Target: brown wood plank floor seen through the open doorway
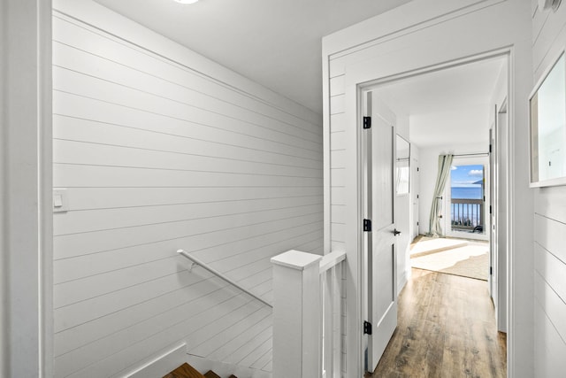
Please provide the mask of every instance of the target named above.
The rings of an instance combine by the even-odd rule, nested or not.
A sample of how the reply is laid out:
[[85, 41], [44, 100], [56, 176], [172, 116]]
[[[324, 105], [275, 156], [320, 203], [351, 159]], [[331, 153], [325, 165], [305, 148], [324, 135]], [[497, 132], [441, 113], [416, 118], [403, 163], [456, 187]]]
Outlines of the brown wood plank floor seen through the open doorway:
[[485, 281], [413, 268], [398, 327], [366, 377], [505, 377], [506, 360]]

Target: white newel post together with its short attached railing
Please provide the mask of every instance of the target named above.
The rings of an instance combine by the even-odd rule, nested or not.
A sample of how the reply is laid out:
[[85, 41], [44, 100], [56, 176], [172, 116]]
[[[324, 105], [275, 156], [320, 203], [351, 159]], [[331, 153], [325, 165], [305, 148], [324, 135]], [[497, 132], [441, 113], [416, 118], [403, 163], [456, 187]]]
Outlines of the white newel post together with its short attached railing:
[[346, 252], [287, 251], [273, 264], [273, 378], [337, 378]]

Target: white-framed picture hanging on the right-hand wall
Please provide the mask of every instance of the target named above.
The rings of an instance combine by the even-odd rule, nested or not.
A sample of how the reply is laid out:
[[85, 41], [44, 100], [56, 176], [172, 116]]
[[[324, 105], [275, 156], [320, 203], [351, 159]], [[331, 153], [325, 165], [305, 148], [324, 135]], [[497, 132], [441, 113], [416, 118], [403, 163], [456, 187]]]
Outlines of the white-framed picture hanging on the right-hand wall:
[[529, 96], [531, 187], [566, 185], [566, 55], [558, 55]]

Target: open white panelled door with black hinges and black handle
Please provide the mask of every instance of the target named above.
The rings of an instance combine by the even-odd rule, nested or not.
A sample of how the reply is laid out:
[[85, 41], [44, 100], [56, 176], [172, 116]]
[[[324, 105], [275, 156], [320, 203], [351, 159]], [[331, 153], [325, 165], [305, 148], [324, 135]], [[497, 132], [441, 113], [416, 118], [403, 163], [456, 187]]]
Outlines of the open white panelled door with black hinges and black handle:
[[[367, 232], [367, 316], [371, 323], [368, 337], [367, 367], [377, 366], [397, 327], [397, 262], [394, 220], [394, 115], [376, 96], [368, 94], [371, 128], [363, 131], [366, 143], [366, 218]], [[364, 221], [367, 224], [367, 221]]]

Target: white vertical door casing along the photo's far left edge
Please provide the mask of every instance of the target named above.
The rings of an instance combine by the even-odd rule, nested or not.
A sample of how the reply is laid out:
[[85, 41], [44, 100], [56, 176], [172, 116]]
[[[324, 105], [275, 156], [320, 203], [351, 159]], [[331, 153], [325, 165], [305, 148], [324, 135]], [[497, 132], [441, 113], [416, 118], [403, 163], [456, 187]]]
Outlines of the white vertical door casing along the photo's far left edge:
[[0, 375], [50, 377], [51, 0], [5, 0], [0, 22]]

